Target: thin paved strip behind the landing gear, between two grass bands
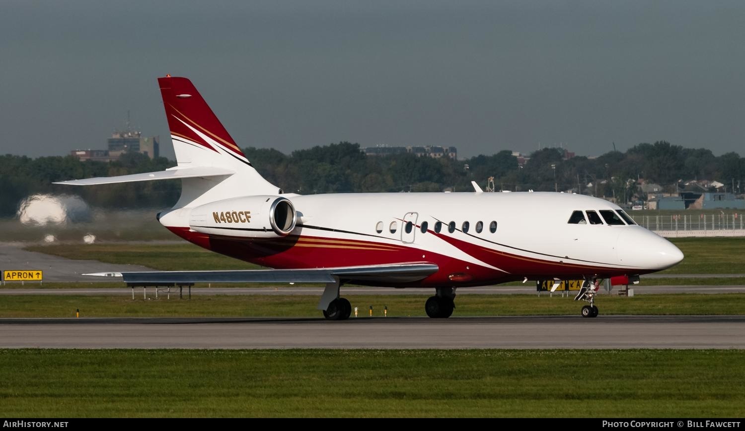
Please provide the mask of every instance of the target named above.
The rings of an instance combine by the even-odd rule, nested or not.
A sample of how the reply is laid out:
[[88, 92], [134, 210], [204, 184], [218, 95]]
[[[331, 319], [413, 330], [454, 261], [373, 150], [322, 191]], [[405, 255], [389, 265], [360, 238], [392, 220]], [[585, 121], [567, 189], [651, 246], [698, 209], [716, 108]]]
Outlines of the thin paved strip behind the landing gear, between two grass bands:
[[[634, 294], [644, 293], [745, 293], [745, 286], [725, 285], [725, 286], [634, 286]], [[188, 289], [184, 288], [184, 295]], [[390, 287], [342, 287], [342, 296], [350, 295], [427, 295], [433, 294], [433, 289], [393, 289]], [[323, 293], [323, 287], [192, 287], [191, 294], [194, 296], [203, 295], [314, 295], [320, 296]], [[487, 286], [487, 287], [462, 287], [457, 290], [458, 295], [480, 294], [480, 295], [505, 295], [522, 293], [525, 295], [535, 295], [536, 287], [534, 286]], [[541, 295], [548, 295], [548, 292], [542, 292]], [[561, 295], [561, 292], [554, 292], [554, 295]], [[574, 296], [577, 292], [570, 292]], [[605, 294], [605, 290], [601, 290]], [[618, 294], [618, 289], [614, 288], [611, 295]], [[95, 288], [88, 289], [0, 289], [0, 296], [3, 295], [90, 295], [90, 296], [107, 296], [107, 295], [126, 295], [132, 296], [130, 287], [115, 288]], [[148, 298], [155, 297], [155, 288], [148, 287], [146, 293]], [[166, 298], [168, 295], [165, 288], [158, 291], [159, 298]], [[179, 290], [177, 287], [171, 287], [171, 298], [177, 298]], [[142, 287], [135, 289], [135, 298], [142, 299]]]

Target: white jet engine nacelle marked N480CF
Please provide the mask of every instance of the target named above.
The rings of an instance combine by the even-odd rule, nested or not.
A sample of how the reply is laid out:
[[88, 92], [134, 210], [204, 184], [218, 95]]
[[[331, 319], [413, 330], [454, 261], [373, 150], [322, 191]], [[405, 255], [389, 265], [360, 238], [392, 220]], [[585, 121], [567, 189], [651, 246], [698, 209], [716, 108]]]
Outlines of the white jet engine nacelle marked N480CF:
[[290, 199], [250, 196], [218, 200], [191, 210], [189, 227], [203, 234], [232, 237], [285, 237], [297, 222]]

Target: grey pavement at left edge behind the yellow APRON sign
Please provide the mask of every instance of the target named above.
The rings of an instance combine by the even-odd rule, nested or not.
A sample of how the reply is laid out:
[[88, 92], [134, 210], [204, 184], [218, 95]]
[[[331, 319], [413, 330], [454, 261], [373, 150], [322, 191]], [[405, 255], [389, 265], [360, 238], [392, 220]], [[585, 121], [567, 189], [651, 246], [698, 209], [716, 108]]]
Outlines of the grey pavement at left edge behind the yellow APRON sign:
[[[41, 269], [44, 281], [91, 281], [87, 272], [153, 271], [139, 265], [104, 264], [99, 261], [75, 261], [44, 253], [28, 252], [23, 243], [0, 243], [0, 269]], [[82, 246], [82, 245], [81, 245]], [[121, 278], [101, 281], [121, 281]], [[34, 282], [38, 284], [38, 282]]]

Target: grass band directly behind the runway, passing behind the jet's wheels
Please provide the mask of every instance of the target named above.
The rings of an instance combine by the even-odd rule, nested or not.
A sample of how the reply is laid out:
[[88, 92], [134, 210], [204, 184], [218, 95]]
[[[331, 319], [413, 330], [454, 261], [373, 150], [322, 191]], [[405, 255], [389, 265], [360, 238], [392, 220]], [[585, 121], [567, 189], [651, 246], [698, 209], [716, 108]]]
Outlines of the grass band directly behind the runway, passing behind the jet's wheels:
[[[142, 299], [142, 290], [130, 296], [0, 296], [0, 318], [9, 317], [320, 317], [316, 305], [320, 296], [192, 296], [191, 300], [161, 296]], [[349, 295], [360, 316], [425, 316], [423, 295]], [[583, 302], [548, 294], [536, 295], [460, 295], [453, 316], [578, 315]], [[743, 314], [745, 294], [668, 294], [638, 295], [633, 298], [601, 296], [601, 314]]]

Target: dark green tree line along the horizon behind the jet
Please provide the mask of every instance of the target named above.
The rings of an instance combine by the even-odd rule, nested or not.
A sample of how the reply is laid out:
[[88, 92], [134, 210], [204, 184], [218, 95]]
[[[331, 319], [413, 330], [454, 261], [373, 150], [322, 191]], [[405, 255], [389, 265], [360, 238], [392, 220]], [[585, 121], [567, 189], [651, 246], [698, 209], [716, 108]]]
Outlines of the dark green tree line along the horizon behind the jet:
[[[340, 142], [290, 154], [270, 148], [246, 148], [244, 153], [259, 173], [287, 193], [472, 191], [471, 182], [486, 188], [494, 177], [497, 191], [567, 191], [628, 202], [644, 198], [638, 179], [679, 190], [682, 182], [711, 179], [739, 193], [745, 188], [745, 159], [738, 153], [714, 156], [711, 150], [691, 149], [657, 141], [638, 144], [624, 153], [612, 151], [597, 158], [565, 159], [565, 151], [534, 151], [521, 167], [510, 150], [490, 156], [453, 160], [413, 154], [366, 156], [359, 144]], [[152, 181], [75, 187], [51, 182], [92, 176], [115, 176], [163, 170], [175, 162], [127, 153], [115, 162], [80, 161], [73, 156], [31, 159], [0, 156], [0, 216], [15, 214], [30, 194], [77, 194], [104, 208], [168, 207], [180, 194], [180, 182]], [[588, 186], [590, 185], [590, 186]], [[250, 185], [247, 185], [250, 192]]]

